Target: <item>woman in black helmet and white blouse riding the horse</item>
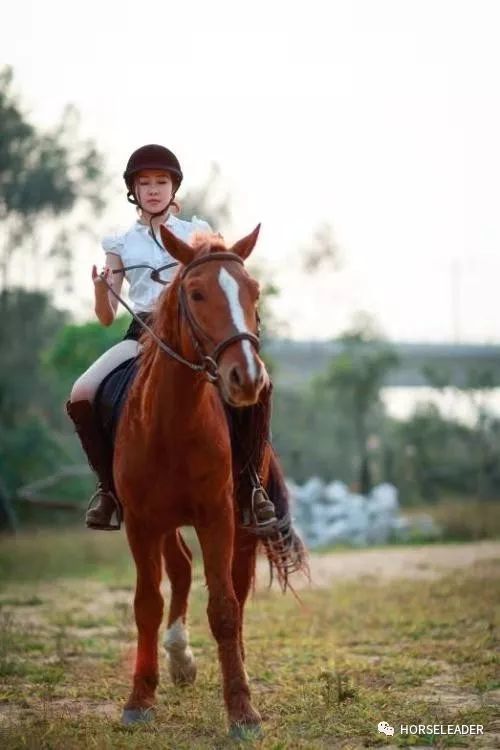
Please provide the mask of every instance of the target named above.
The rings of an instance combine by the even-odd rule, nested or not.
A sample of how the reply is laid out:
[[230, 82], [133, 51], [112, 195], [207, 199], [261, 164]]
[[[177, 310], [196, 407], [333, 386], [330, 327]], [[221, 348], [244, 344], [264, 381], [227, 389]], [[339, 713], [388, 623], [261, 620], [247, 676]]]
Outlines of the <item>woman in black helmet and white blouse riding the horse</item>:
[[[116, 367], [140, 352], [139, 339], [143, 323], [150, 323], [153, 310], [177, 265], [156, 235], [161, 226], [188, 240], [196, 231], [211, 231], [206, 221], [193, 216], [191, 221], [178, 219], [172, 211], [179, 210], [175, 201], [183, 174], [177, 157], [169, 149], [156, 144], [142, 146], [130, 156], [124, 172], [127, 199], [133, 203], [139, 218], [124, 234], [103, 240], [106, 265], [97, 273], [92, 268], [95, 290], [95, 312], [99, 321], [109, 326], [115, 319], [123, 278], [129, 282], [131, 311], [134, 314], [123, 341], [118, 342], [94, 362], [75, 382], [67, 404], [90, 466], [98, 477], [86, 515], [89, 528], [115, 530], [120, 528], [121, 508], [113, 484], [112, 448], [96, 423], [93, 402], [101, 382]], [[279, 521], [281, 534], [291, 543], [295, 532], [291, 527], [288, 498], [284, 486], [273, 479], [269, 493], [259, 494], [256, 504], [257, 524]], [[116, 513], [117, 522], [112, 523]], [[277, 518], [276, 518], [277, 516]]]

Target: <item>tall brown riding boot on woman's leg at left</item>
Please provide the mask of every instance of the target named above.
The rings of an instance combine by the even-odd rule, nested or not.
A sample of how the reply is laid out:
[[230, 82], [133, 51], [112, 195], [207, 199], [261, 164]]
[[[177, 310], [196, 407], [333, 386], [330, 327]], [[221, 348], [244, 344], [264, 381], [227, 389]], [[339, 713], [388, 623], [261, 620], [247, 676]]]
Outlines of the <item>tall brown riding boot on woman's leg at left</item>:
[[[91, 469], [97, 475], [97, 490], [90, 498], [85, 521], [89, 529], [117, 531], [122, 520], [122, 509], [113, 486], [113, 457], [95, 421], [90, 401], [68, 401], [66, 411], [73, 421]], [[116, 513], [116, 523], [112, 523]]]

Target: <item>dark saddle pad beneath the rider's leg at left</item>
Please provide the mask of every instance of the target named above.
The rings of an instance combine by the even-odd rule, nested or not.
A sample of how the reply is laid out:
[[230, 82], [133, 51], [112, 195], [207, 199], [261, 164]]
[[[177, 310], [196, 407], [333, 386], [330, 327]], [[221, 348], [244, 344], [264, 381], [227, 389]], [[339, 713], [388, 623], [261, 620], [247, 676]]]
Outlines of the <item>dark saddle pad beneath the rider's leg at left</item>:
[[123, 405], [137, 373], [137, 360], [138, 357], [132, 357], [111, 370], [100, 384], [94, 399], [97, 422], [111, 445], [114, 445]]

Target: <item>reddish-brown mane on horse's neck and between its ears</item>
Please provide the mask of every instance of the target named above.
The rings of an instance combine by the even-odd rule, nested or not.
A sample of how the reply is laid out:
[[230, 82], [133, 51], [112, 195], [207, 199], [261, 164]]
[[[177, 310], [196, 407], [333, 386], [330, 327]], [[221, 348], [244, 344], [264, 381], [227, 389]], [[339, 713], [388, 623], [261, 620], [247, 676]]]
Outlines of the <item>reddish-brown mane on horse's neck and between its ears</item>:
[[[214, 232], [194, 232], [189, 244], [195, 250], [195, 257], [206, 255], [207, 253], [228, 251], [227, 245], [220, 234]], [[159, 296], [155, 310], [152, 316], [151, 328], [157, 336], [163, 338], [169, 346], [177, 349], [179, 346], [179, 330], [177, 319], [178, 294], [180, 286], [180, 277], [184, 266], [180, 266], [166, 287], [165, 291]], [[144, 332], [141, 336], [142, 344], [142, 362], [147, 367], [158, 351], [158, 345], [154, 339]]]

